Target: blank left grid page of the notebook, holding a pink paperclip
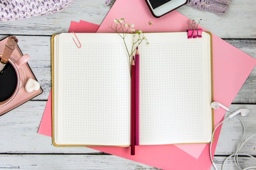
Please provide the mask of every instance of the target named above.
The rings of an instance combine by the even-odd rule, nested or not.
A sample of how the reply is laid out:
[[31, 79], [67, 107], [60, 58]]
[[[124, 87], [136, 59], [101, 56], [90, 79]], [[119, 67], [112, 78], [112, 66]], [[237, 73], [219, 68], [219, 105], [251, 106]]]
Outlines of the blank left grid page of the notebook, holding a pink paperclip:
[[[130, 76], [127, 52], [116, 34], [58, 35], [55, 42], [55, 142], [129, 145]], [[57, 104], [57, 107], [56, 107]]]

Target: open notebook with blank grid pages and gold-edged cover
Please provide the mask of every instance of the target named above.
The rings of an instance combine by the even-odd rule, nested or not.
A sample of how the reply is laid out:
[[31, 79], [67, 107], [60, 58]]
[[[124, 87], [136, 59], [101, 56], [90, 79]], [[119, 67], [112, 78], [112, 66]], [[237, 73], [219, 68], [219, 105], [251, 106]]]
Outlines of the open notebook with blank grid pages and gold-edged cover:
[[[76, 35], [80, 49], [73, 33], [52, 37], [53, 144], [129, 146], [131, 77], [122, 38]], [[194, 39], [144, 35], [149, 45], [139, 46], [139, 144], [210, 142], [210, 33]]]

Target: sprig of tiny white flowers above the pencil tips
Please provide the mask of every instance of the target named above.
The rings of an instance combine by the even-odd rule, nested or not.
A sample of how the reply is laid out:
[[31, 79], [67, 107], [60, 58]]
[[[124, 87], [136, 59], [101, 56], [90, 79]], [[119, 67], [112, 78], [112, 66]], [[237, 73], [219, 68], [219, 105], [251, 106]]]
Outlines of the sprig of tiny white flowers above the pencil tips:
[[[142, 41], [146, 40], [146, 37], [143, 35], [142, 30], [135, 30], [134, 24], [126, 23], [124, 18], [114, 19], [114, 25], [112, 24], [111, 28], [122, 38], [124, 42], [125, 49], [129, 55], [129, 72], [131, 74], [132, 55], [134, 55], [136, 48], [142, 43]], [[125, 41], [127, 33], [132, 33], [132, 49], [130, 51], [128, 50], [127, 43]]]

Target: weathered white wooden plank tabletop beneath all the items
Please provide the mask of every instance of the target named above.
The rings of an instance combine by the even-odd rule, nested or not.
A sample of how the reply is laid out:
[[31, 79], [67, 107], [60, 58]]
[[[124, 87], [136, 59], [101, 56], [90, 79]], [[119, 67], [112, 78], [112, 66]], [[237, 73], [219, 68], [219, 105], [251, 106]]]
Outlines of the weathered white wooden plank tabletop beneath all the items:
[[[0, 169], [154, 169], [86, 147], [53, 147], [50, 137], [37, 133], [50, 91], [50, 35], [68, 32], [70, 21], [81, 19], [100, 24], [110, 10], [104, 4], [104, 0], [75, 0], [60, 13], [0, 23], [0, 38], [17, 35], [22, 52], [31, 55], [28, 63], [43, 88], [43, 94], [0, 117]], [[233, 0], [225, 16], [190, 6], [183, 6], [178, 11], [188, 18], [200, 19], [201, 26], [256, 58], [255, 8], [255, 0]], [[256, 69], [231, 106], [233, 110], [250, 109], [250, 115], [242, 118], [247, 137], [256, 132], [255, 104]], [[234, 152], [241, 134], [240, 123], [235, 118], [223, 125], [215, 152], [218, 167]], [[242, 151], [256, 156], [255, 141], [248, 142]], [[247, 157], [240, 160], [242, 165], [256, 165]], [[231, 160], [226, 167], [235, 169]]]

